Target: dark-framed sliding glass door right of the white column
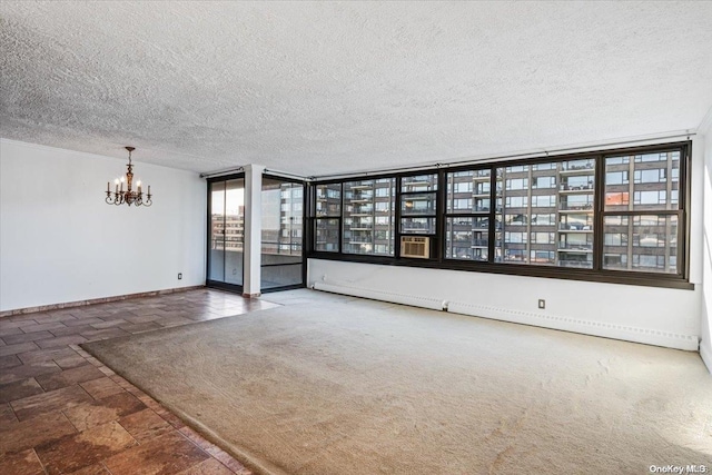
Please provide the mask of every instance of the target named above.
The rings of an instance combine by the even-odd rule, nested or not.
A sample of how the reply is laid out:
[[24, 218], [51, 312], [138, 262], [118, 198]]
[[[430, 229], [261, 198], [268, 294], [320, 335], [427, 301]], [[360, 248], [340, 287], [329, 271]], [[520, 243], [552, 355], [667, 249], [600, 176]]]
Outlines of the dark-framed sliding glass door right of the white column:
[[304, 285], [304, 185], [264, 177], [261, 290]]

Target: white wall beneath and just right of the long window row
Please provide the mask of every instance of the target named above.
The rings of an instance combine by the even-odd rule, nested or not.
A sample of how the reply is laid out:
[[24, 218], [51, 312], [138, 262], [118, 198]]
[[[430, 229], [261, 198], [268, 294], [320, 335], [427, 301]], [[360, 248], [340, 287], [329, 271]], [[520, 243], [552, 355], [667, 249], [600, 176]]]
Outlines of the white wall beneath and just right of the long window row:
[[[706, 160], [706, 161], [705, 161]], [[696, 350], [710, 347], [712, 315], [712, 152], [695, 138], [692, 155], [690, 281], [694, 290], [309, 259], [308, 285], [368, 298], [630, 342]], [[703, 245], [703, 216], [706, 244]], [[703, 248], [706, 319], [702, 318]], [[537, 300], [546, 300], [540, 310]], [[703, 327], [701, 329], [701, 326]], [[712, 353], [709, 353], [712, 355]], [[709, 363], [708, 363], [709, 365]]]

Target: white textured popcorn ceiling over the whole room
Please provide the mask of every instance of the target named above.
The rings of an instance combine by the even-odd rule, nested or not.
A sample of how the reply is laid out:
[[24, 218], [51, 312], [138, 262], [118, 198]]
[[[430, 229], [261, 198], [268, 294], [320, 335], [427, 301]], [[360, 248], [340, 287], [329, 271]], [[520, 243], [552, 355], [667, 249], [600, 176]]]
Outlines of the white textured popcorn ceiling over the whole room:
[[299, 175], [694, 129], [712, 2], [0, 2], [0, 135]]

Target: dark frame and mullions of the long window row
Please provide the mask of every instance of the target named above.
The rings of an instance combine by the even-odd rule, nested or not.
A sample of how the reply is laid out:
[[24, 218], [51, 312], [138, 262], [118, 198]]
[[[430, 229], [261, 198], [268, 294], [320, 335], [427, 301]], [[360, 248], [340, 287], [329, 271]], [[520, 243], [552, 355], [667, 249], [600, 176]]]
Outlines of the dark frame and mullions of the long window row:
[[[576, 154], [562, 154], [550, 155], [544, 157], [528, 158], [528, 159], [497, 159], [492, 161], [483, 161], [473, 165], [457, 165], [447, 166], [438, 165], [435, 167], [423, 167], [404, 172], [383, 172], [373, 175], [359, 175], [359, 176], [345, 176], [344, 178], [325, 179], [320, 180], [315, 178], [310, 182], [313, 190], [310, 195], [315, 197], [316, 186], [327, 184], [343, 184], [346, 181], [356, 181], [363, 179], [378, 179], [378, 178], [395, 178], [396, 179], [396, 207], [395, 207], [395, 229], [393, 232], [394, 238], [394, 256], [372, 256], [372, 255], [349, 255], [344, 254], [343, 250], [343, 229], [339, 237], [338, 253], [316, 251], [314, 246], [309, 246], [307, 257], [325, 260], [344, 260], [356, 263], [369, 263], [379, 265], [392, 266], [409, 266], [409, 267], [423, 267], [423, 268], [441, 268], [451, 270], [464, 270], [464, 271], [477, 271], [477, 273], [491, 273], [491, 274], [504, 274], [504, 275], [518, 275], [531, 277], [544, 277], [544, 278], [557, 278], [568, 280], [585, 280], [585, 281], [599, 281], [610, 284], [623, 284], [623, 285], [637, 285], [637, 286], [652, 286], [652, 287], [666, 287], [666, 288], [680, 288], [680, 289], [693, 289], [694, 285], [689, 281], [690, 278], [690, 162], [691, 162], [691, 149], [692, 141], [678, 141], [668, 144], [657, 144], [652, 146], [627, 147], [627, 148], [605, 148], [593, 151], [576, 152]], [[605, 158], [624, 156], [624, 155], [644, 155], [650, 152], [662, 151], [680, 151], [680, 168], [679, 168], [679, 198], [678, 207], [673, 210], [630, 210], [630, 211], [606, 211], [605, 210]], [[520, 166], [537, 166], [540, 164], [551, 164], [557, 161], [568, 161], [576, 159], [591, 158], [594, 159], [594, 194], [593, 194], [593, 268], [572, 268], [572, 267], [557, 267], [547, 265], [532, 265], [532, 264], [513, 264], [513, 263], [495, 263], [495, 215], [496, 215], [496, 168], [497, 167], [520, 167]], [[635, 160], [633, 157], [632, 160]], [[447, 211], [447, 174], [457, 171], [474, 171], [481, 169], [490, 170], [490, 211], [488, 212], [452, 212]], [[431, 258], [429, 259], [413, 259], [403, 258], [400, 256], [400, 195], [402, 192], [402, 178], [408, 176], [437, 174], [438, 188], [435, 192], [436, 196], [436, 234], [431, 236]], [[632, 177], [629, 177], [631, 180]], [[503, 184], [504, 186], [504, 184]], [[473, 188], [474, 189], [474, 188]], [[530, 184], [530, 189], [532, 184]], [[427, 191], [433, 192], [433, 191]], [[633, 197], [630, 197], [631, 199]], [[314, 198], [312, 198], [314, 201]], [[344, 192], [342, 186], [342, 217], [339, 222], [343, 228], [343, 215], [344, 215]], [[558, 200], [556, 202], [558, 206]], [[313, 208], [313, 207], [312, 207]], [[308, 215], [312, 217], [312, 222], [308, 229], [314, 234], [316, 231], [316, 219], [314, 218], [314, 209], [309, 209]], [[533, 211], [532, 211], [533, 214]], [[604, 216], [611, 215], [659, 215], [659, 214], [675, 214], [678, 216], [678, 255], [676, 255], [676, 274], [663, 274], [663, 273], [649, 273], [641, 270], [620, 270], [620, 269], [605, 269], [604, 268]], [[488, 247], [487, 247], [487, 261], [476, 259], [454, 259], [445, 258], [446, 256], [446, 222], [447, 218], [473, 218], [473, 217], [487, 217], [488, 218]], [[558, 224], [556, 224], [558, 226]], [[407, 235], [407, 234], [406, 234]]]

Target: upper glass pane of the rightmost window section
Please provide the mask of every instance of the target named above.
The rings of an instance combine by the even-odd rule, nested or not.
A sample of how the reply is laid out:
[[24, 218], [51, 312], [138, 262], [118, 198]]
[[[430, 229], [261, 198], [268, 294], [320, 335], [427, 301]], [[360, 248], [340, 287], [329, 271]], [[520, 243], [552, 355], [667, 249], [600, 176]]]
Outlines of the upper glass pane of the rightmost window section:
[[605, 159], [606, 211], [676, 210], [679, 192], [679, 150]]

